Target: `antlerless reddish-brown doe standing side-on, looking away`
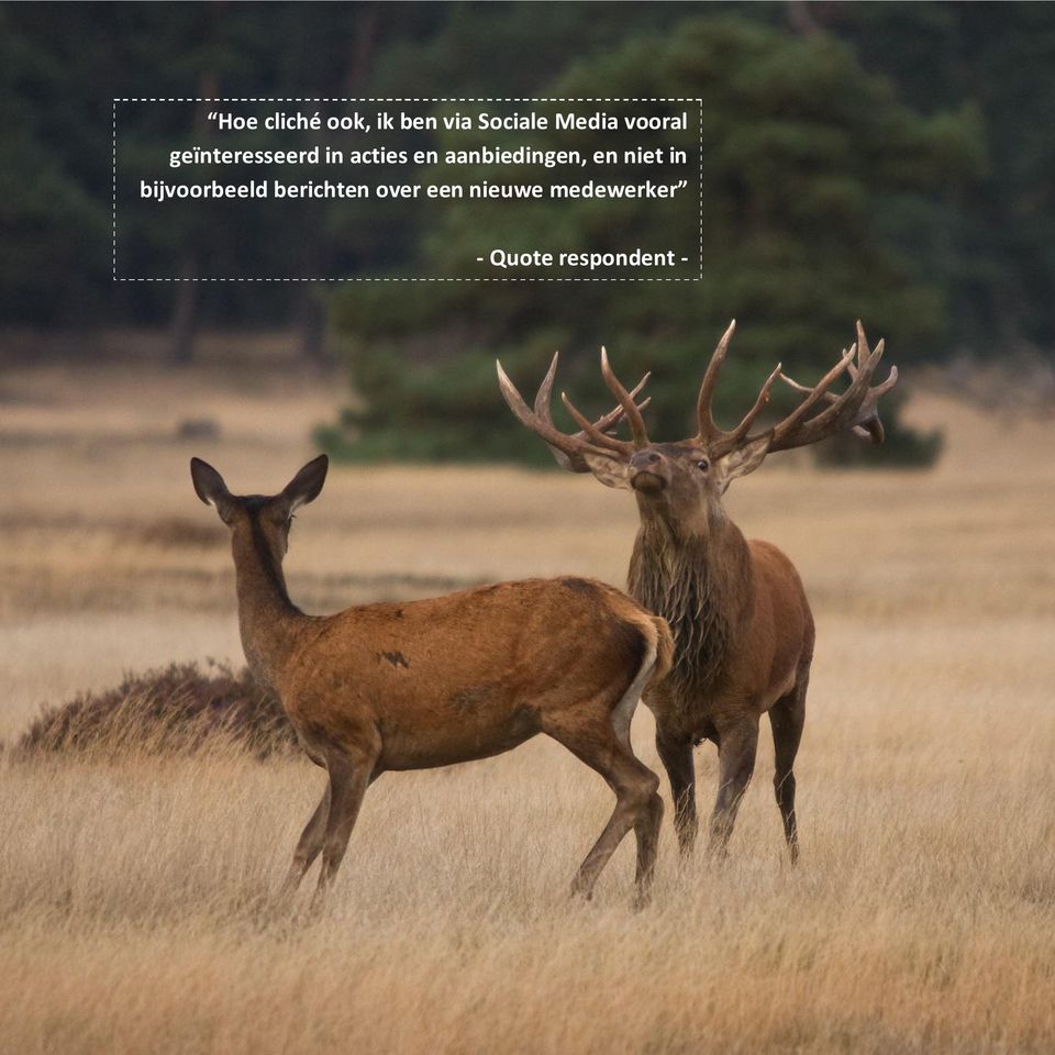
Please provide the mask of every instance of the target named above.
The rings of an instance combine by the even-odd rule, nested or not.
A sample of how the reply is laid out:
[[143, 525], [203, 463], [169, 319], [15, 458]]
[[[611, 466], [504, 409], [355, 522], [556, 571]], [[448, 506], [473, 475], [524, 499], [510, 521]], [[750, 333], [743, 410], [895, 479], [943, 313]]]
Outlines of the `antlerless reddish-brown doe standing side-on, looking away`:
[[623, 836], [637, 836], [637, 897], [647, 897], [663, 800], [634, 757], [630, 722], [670, 666], [667, 624], [590, 579], [501, 582], [431, 600], [306, 615], [282, 558], [293, 511], [318, 498], [321, 455], [278, 495], [232, 495], [199, 458], [198, 497], [231, 529], [242, 646], [309, 757], [325, 768], [282, 888], [290, 898], [322, 853], [318, 902], [341, 865], [368, 785], [386, 769], [425, 769], [501, 754], [546, 733], [615, 792], [611, 820], [573, 885], [589, 897]]

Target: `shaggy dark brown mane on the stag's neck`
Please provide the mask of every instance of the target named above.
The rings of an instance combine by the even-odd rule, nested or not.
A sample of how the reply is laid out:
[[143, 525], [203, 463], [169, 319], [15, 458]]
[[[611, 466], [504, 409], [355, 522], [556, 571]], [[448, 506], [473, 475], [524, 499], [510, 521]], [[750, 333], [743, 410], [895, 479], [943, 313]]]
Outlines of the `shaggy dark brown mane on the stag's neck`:
[[724, 520], [707, 535], [679, 537], [659, 519], [642, 520], [630, 562], [630, 592], [670, 624], [669, 685], [685, 703], [724, 675], [729, 642], [754, 603], [749, 554]]

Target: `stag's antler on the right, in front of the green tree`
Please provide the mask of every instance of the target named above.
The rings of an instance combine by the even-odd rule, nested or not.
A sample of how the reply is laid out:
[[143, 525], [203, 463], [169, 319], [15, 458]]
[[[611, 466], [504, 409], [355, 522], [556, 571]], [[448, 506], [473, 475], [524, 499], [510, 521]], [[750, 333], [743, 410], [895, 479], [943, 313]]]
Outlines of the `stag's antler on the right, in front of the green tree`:
[[[778, 377], [797, 391], [804, 392], [806, 399], [787, 418], [768, 430], [770, 435], [769, 453], [790, 451], [792, 447], [818, 443], [846, 429], [853, 430], [857, 435], [865, 438], [871, 438], [874, 443], [882, 442], [882, 422], [879, 420], [878, 407], [879, 397], [893, 388], [898, 380], [898, 368], [896, 366], [891, 367], [889, 377], [882, 384], [875, 388], [868, 387], [871, 376], [879, 365], [879, 359], [882, 358], [884, 342], [880, 341], [874, 352], [869, 351], [868, 341], [859, 321], [857, 323], [857, 343], [848, 351], [843, 352], [842, 358], [817, 385], [812, 388], [799, 385], [798, 381], [793, 381], [782, 374], [780, 364], [777, 364], [776, 369], [762, 386], [754, 407], [747, 411], [740, 424], [730, 432], [723, 432], [719, 429], [711, 413], [711, 400], [735, 327], [736, 322], [733, 320], [722, 335], [722, 340], [719, 341], [718, 347], [711, 356], [711, 362], [708, 364], [707, 373], [703, 375], [703, 384], [700, 386], [700, 395], [697, 399], [697, 417], [700, 427], [697, 440], [707, 446], [711, 452], [711, 457], [721, 457], [730, 451], [746, 446], [766, 435], [766, 432], [755, 433], [754, 435], [748, 435], [748, 433], [755, 419], [768, 402], [769, 391]], [[856, 365], [853, 362], [855, 355], [857, 356]], [[829, 391], [839, 377], [847, 371], [851, 382], [846, 391], [840, 395]], [[828, 406], [820, 413], [812, 418], [809, 417], [810, 411], [822, 400]]]

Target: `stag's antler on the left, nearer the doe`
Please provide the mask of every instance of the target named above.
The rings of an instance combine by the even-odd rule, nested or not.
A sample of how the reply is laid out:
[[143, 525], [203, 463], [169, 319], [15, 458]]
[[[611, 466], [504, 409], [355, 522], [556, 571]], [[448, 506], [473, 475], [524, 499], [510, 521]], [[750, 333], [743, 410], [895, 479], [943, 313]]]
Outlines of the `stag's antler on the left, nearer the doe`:
[[[509, 404], [509, 409], [517, 415], [520, 422], [526, 425], [532, 432], [542, 436], [549, 445], [553, 456], [557, 464], [573, 473], [589, 473], [590, 467], [584, 459], [584, 454], [604, 454], [608, 456], [617, 455], [620, 457], [630, 457], [630, 454], [638, 446], [646, 446], [648, 437], [645, 434], [645, 424], [641, 417], [641, 411], [648, 406], [649, 400], [644, 399], [641, 403], [635, 402], [637, 395], [645, 387], [645, 382], [651, 377], [645, 376], [634, 386], [631, 391], [626, 391], [620, 385], [611, 367], [608, 365], [608, 353], [601, 348], [601, 373], [604, 381], [619, 400], [619, 406], [610, 410], [607, 414], [591, 422], [581, 414], [571, 403], [568, 397], [562, 392], [560, 399], [568, 413], [575, 419], [581, 427], [580, 432], [566, 433], [560, 432], [553, 423], [553, 414], [549, 410], [549, 403], [553, 396], [553, 382], [557, 375], [557, 360], [560, 353], [555, 352], [549, 363], [549, 369], [538, 386], [535, 395], [534, 410], [529, 408], [523, 397], [517, 390], [517, 386], [509, 379], [509, 375], [502, 369], [502, 364], [496, 360], [498, 368], [498, 385], [502, 390], [502, 396]], [[634, 441], [618, 440], [609, 435], [609, 430], [614, 429], [622, 420], [626, 418], [630, 422], [631, 433]]]

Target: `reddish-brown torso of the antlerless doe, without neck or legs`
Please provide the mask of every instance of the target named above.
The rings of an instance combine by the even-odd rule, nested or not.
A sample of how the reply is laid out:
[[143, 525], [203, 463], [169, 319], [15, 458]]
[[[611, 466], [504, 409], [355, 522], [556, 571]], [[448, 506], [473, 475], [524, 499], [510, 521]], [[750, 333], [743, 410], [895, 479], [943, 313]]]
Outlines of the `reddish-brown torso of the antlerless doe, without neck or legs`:
[[[547, 710], [622, 698], [655, 632], [590, 579], [529, 579], [315, 621], [282, 701], [302, 737], [376, 735], [388, 769], [508, 751]], [[554, 632], [554, 631], [558, 632]]]

